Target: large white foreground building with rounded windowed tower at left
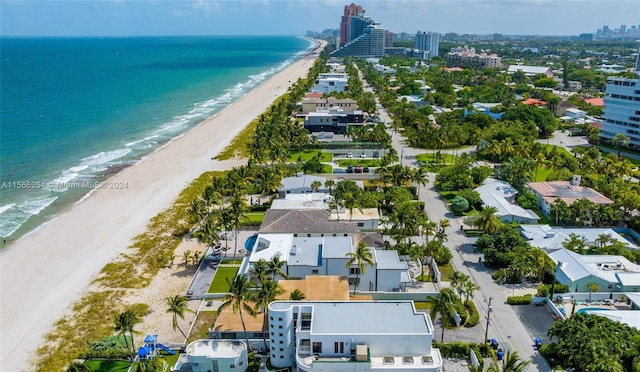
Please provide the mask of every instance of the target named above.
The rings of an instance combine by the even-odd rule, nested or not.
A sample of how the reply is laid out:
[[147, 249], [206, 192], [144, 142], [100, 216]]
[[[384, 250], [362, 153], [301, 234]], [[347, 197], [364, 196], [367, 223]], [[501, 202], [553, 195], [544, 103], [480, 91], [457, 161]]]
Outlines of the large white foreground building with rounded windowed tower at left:
[[271, 364], [299, 371], [442, 371], [434, 328], [411, 301], [275, 301]]

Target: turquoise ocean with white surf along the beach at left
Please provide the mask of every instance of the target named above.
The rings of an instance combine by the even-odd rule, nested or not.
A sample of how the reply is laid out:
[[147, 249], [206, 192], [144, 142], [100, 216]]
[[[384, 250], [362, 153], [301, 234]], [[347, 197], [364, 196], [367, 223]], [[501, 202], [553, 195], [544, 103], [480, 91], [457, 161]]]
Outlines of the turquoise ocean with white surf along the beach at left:
[[0, 37], [2, 246], [303, 56], [259, 37]]

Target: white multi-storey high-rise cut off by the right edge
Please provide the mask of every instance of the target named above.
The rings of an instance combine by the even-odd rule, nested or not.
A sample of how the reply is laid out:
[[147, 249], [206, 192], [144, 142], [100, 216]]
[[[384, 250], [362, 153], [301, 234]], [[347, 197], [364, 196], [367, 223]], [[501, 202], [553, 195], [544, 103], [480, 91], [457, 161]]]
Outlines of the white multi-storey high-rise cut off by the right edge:
[[622, 133], [629, 137], [629, 147], [640, 148], [640, 79], [608, 77], [602, 116], [601, 137]]

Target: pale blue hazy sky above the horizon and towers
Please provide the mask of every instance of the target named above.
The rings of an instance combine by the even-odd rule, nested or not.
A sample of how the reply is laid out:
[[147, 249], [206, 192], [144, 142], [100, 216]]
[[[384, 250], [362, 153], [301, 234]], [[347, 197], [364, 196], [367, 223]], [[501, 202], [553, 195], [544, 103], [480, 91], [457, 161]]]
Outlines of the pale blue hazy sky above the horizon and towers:
[[[304, 35], [338, 28], [337, 0], [0, 0], [0, 35]], [[638, 0], [355, 1], [392, 32], [577, 35], [640, 24]]]

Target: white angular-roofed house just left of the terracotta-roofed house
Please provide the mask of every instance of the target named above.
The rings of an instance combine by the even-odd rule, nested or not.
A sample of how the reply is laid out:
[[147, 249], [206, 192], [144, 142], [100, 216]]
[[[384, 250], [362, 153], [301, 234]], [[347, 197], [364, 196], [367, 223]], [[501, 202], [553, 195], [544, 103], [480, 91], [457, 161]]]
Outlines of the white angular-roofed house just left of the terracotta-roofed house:
[[513, 204], [518, 191], [508, 182], [487, 178], [475, 191], [482, 204], [497, 209], [496, 216], [502, 222], [537, 223], [540, 219], [534, 211]]

